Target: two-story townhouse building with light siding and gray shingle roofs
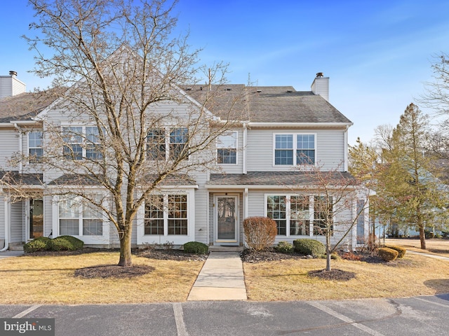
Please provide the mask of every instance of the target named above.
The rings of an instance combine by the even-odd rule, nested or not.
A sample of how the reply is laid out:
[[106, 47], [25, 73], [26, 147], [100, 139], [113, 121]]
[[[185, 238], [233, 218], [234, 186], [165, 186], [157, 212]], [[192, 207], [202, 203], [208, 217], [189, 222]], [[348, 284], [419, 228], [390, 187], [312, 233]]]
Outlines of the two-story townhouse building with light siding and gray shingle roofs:
[[[180, 87], [182, 94], [195, 101], [206, 88]], [[269, 216], [276, 220], [276, 241], [314, 238], [324, 241], [314, 223], [319, 223], [319, 211], [314, 211], [313, 193], [302, 194], [309, 202], [299, 204], [298, 193], [310, 183], [297, 166], [305, 160], [322, 169], [338, 169], [347, 173], [347, 138], [351, 121], [328, 102], [329, 78], [318, 73], [311, 91], [297, 92], [293, 87], [244, 87], [229, 85], [220, 99], [209, 109], [216, 116], [222, 114], [232, 95], [246, 90], [247, 120], [223, 134], [213, 148], [215, 169], [200, 169], [188, 179], [170, 176], [158, 195], [143, 205], [135, 219], [133, 245], [163, 244], [167, 241], [181, 245], [187, 241], [201, 241], [210, 245], [242, 246], [243, 219], [250, 216]], [[0, 167], [8, 179], [0, 195], [0, 239], [5, 248], [40, 236], [74, 235], [88, 246], [114, 247], [119, 240], [116, 229], [107, 218], [95, 211], [83, 209], [83, 204], [71, 206], [73, 200], [52, 195], [51, 190], [67, 181], [84, 183], [95, 190], [95, 183], [80, 182], [79, 176], [36, 171], [26, 164], [15, 165], [9, 159], [15, 153], [29, 155], [30, 162], [46, 155], [46, 129], [42, 120], [61, 125], [61, 132], [78, 128], [95, 139], [98, 130], [83, 120], [76, 125], [55, 108], [51, 99], [39, 99], [32, 93], [21, 93], [0, 99]], [[177, 104], [175, 111], [185, 107]], [[158, 109], [156, 106], [155, 109]], [[168, 134], [167, 134], [168, 132]], [[148, 141], [158, 144], [148, 151], [154, 158], [169, 158], [176, 148], [184, 146], [186, 132], [182, 128], [152, 130]], [[62, 135], [62, 137], [64, 137]], [[67, 138], [68, 139], [68, 138]], [[95, 147], [82, 148], [70, 138], [64, 151], [79, 155], [74, 160], [93, 158]], [[95, 141], [93, 141], [95, 142]], [[6, 174], [8, 173], [8, 174]], [[13, 181], [11, 183], [11, 181]], [[20, 186], [27, 195], [10, 197], [11, 186]], [[29, 192], [32, 193], [29, 193]], [[98, 190], [98, 193], [105, 191]], [[158, 206], [157, 204], [161, 204]], [[345, 240], [355, 247], [357, 237], [368, 232], [368, 208], [358, 208], [360, 202], [349, 207], [349, 218], [364, 211]], [[73, 205], [73, 204], [72, 204]], [[163, 206], [162, 206], [163, 205]], [[167, 211], [175, 206], [177, 211]], [[341, 215], [339, 215], [341, 216]], [[335, 218], [338, 223], [338, 218]], [[339, 237], [333, 237], [337, 241]], [[1, 248], [1, 244], [0, 244]]]

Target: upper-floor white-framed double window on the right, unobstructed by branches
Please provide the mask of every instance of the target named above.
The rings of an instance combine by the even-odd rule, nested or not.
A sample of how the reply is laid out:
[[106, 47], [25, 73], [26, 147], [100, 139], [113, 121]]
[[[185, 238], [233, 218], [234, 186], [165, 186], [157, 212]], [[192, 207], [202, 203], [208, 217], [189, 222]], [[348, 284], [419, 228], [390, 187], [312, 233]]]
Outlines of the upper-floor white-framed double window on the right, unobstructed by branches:
[[274, 165], [314, 165], [314, 134], [274, 134]]

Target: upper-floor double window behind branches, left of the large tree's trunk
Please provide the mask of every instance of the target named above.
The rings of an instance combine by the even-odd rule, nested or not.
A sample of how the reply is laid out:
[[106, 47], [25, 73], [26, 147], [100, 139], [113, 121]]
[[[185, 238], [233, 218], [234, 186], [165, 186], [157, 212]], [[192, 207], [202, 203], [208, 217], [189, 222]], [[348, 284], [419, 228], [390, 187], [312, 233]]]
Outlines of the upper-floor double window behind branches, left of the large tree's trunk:
[[62, 139], [65, 144], [62, 153], [67, 160], [98, 160], [100, 151], [100, 134], [96, 126], [62, 127]]

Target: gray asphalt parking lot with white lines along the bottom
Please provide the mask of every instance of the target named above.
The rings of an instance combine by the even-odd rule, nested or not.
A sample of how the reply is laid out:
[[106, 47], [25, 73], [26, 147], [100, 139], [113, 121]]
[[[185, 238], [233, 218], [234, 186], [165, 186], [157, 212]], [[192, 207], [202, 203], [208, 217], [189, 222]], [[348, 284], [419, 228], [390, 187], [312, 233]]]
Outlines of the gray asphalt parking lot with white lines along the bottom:
[[[347, 301], [0, 305], [55, 335], [448, 335], [449, 295]], [[26, 334], [25, 334], [26, 335]]]

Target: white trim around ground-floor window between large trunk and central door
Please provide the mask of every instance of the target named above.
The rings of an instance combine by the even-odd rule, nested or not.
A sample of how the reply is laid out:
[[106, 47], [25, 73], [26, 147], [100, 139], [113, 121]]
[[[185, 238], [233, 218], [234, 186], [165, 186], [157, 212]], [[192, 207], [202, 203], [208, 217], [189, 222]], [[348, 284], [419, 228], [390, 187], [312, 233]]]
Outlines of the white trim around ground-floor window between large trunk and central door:
[[195, 240], [195, 190], [186, 188], [185, 190], [161, 190], [157, 195], [187, 195], [187, 235], [168, 235], [166, 230], [164, 211], [164, 233], [163, 235], [145, 235], [145, 202], [138, 209], [137, 214], [137, 235], [138, 245], [145, 244], [164, 244], [167, 241], [175, 245], [182, 245]]

